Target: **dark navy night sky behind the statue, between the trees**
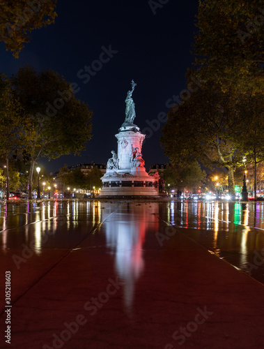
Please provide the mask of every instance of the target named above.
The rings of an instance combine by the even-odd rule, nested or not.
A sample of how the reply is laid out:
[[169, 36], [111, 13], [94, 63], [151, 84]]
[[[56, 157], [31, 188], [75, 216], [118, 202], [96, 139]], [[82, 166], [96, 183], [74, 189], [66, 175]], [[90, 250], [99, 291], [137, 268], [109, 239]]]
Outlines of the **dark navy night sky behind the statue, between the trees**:
[[[158, 0], [156, 1], [158, 3]], [[164, 2], [164, 1], [163, 1]], [[166, 1], [165, 1], [166, 2]], [[169, 0], [153, 14], [148, 0], [59, 0], [56, 23], [33, 31], [19, 59], [0, 43], [1, 72], [11, 75], [26, 64], [37, 70], [52, 68], [80, 87], [77, 98], [93, 110], [93, 138], [81, 156], [61, 156], [38, 163], [47, 171], [95, 161], [107, 163], [117, 151], [115, 134], [125, 119], [125, 97], [132, 79], [136, 119], [141, 131], [147, 120], [168, 112], [166, 101], [186, 88], [185, 73], [194, 57], [194, 16], [198, 0]], [[77, 76], [100, 57], [102, 46], [118, 51], [88, 83]], [[168, 161], [160, 147], [161, 127], [143, 143], [146, 169]]]

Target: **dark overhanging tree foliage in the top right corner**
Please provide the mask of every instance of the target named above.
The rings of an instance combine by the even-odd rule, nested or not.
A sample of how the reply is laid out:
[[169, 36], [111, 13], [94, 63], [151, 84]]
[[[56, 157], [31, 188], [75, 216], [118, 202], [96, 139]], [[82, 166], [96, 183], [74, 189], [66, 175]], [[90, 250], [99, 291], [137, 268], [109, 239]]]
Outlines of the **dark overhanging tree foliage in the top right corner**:
[[223, 91], [263, 91], [262, 0], [200, 0], [194, 52], [202, 79]]

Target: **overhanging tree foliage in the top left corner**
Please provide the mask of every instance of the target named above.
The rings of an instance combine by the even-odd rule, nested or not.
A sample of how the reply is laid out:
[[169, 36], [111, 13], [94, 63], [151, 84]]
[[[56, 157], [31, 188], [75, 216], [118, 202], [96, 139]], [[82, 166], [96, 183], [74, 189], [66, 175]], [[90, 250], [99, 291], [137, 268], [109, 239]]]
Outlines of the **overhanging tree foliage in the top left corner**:
[[33, 29], [54, 23], [56, 0], [0, 0], [0, 40], [18, 58]]

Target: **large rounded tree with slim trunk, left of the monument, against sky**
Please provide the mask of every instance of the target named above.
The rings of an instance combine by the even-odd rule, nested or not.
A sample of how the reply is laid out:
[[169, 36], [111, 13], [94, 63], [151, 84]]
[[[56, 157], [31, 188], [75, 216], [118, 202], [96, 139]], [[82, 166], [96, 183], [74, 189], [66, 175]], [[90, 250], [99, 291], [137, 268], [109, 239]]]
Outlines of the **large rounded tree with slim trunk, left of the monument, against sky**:
[[32, 198], [32, 176], [39, 156], [79, 154], [91, 139], [92, 112], [75, 98], [71, 85], [53, 70], [37, 73], [26, 66], [11, 81], [24, 110], [24, 149], [30, 156], [29, 198]]

